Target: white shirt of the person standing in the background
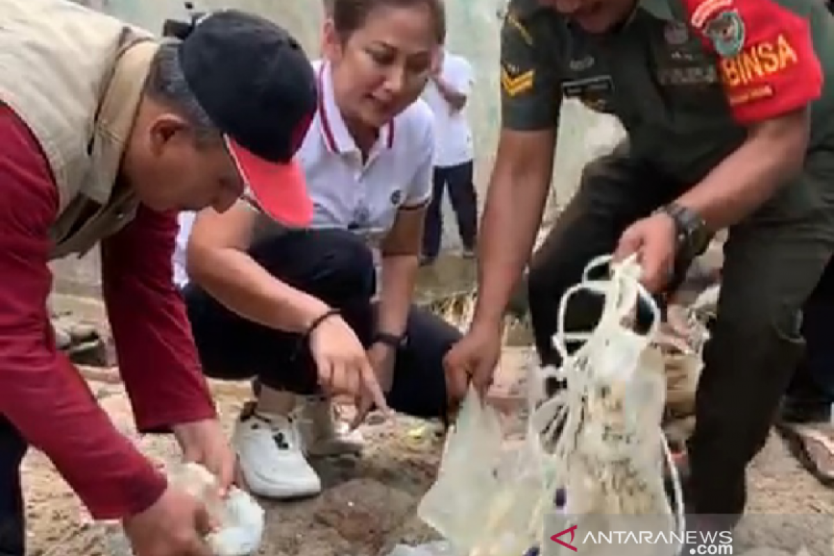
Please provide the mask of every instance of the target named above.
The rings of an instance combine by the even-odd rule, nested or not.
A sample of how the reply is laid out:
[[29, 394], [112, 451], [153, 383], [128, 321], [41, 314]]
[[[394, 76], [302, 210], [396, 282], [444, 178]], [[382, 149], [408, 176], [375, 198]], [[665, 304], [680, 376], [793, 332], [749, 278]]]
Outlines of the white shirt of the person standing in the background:
[[[465, 95], [469, 103], [475, 86], [475, 73], [466, 58], [446, 51], [440, 78], [455, 91]], [[472, 129], [466, 119], [466, 106], [462, 110], [453, 111], [433, 81], [426, 85], [423, 98], [435, 114], [435, 165], [448, 167], [470, 162], [475, 158], [475, 146], [472, 142]]]

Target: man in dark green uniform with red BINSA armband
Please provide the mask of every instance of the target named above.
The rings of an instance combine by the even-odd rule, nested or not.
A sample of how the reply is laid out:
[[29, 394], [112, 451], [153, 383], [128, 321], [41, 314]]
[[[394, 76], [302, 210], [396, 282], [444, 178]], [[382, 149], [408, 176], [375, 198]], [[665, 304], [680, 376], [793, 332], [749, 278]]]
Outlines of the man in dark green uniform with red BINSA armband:
[[[450, 383], [492, 378], [501, 316], [540, 226], [562, 99], [613, 114], [628, 138], [585, 168], [530, 262], [536, 348], [558, 363], [557, 303], [591, 258], [639, 253], [644, 283], [661, 293], [676, 261], [729, 228], [686, 502], [735, 523], [747, 463], [803, 352], [800, 309], [834, 250], [834, 18], [816, 0], [512, 0], [501, 41], [480, 297], [447, 357]], [[575, 308], [568, 328], [590, 328], [588, 308]]]

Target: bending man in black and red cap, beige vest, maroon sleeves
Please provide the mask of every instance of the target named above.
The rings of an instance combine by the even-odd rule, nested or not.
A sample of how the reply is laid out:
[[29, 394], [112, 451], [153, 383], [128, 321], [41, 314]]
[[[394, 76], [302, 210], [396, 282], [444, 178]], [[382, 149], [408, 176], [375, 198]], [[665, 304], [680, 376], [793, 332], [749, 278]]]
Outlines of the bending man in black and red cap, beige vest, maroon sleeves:
[[139, 431], [173, 432], [223, 488], [234, 453], [171, 283], [176, 213], [244, 199], [289, 226], [316, 106], [298, 43], [227, 10], [181, 41], [62, 0], [5, 0], [0, 33], [0, 555], [23, 556], [19, 467], [46, 453], [137, 556], [203, 556], [205, 508], [168, 485], [57, 353], [48, 261], [101, 243], [103, 296]]

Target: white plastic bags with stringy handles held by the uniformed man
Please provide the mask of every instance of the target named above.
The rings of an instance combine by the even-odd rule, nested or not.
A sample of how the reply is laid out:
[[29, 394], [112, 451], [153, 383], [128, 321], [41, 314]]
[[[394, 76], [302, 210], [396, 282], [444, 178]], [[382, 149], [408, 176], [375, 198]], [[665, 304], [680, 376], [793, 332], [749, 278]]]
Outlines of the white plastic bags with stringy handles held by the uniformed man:
[[[418, 508], [455, 553], [518, 556], [543, 546], [545, 522], [556, 513], [560, 489], [567, 498], [562, 513], [570, 519], [660, 516], [666, 531], [683, 538], [680, 481], [661, 430], [663, 359], [651, 345], [660, 314], [639, 282], [636, 258], [610, 261], [609, 256], [592, 261], [582, 282], [560, 301], [554, 343], [563, 363], [541, 369], [539, 379], [556, 378], [567, 386], [550, 398], [529, 400], [533, 410], [525, 443], [501, 453], [495, 411], [473, 392], [465, 400], [437, 482]], [[610, 278], [591, 280], [600, 266], [610, 266]], [[566, 333], [567, 304], [582, 291], [605, 296], [602, 317], [592, 331]], [[653, 317], [644, 335], [631, 326], [638, 299]], [[565, 343], [573, 341], [582, 344], [570, 354]], [[543, 388], [530, 389], [536, 391]], [[664, 459], [676, 485], [674, 511], [664, 488]]]

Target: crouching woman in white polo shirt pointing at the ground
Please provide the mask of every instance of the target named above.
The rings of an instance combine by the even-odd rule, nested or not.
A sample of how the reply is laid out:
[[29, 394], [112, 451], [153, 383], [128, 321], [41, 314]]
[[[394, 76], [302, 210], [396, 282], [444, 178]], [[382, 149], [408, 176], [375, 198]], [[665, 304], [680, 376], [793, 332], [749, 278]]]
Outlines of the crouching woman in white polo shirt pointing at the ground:
[[254, 493], [321, 488], [288, 393], [321, 386], [367, 409], [379, 388], [378, 407], [445, 416], [442, 359], [460, 334], [411, 307], [435, 143], [418, 98], [444, 35], [441, 0], [335, 0], [298, 154], [311, 229], [243, 203], [194, 223], [183, 295], [205, 372], [261, 385], [234, 433]]

